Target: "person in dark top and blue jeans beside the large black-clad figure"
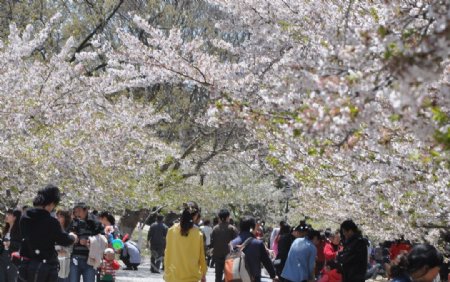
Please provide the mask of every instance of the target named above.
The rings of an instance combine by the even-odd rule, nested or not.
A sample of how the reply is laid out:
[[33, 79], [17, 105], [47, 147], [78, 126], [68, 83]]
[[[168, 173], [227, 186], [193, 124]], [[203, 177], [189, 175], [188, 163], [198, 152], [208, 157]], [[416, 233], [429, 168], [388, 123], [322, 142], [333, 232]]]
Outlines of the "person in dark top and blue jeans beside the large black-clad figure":
[[75, 219], [69, 226], [69, 230], [78, 236], [73, 246], [70, 260], [70, 282], [79, 282], [81, 276], [83, 281], [94, 282], [96, 270], [88, 265], [89, 237], [104, 234], [103, 225], [89, 213], [88, 206], [83, 203], [75, 204], [73, 208]]

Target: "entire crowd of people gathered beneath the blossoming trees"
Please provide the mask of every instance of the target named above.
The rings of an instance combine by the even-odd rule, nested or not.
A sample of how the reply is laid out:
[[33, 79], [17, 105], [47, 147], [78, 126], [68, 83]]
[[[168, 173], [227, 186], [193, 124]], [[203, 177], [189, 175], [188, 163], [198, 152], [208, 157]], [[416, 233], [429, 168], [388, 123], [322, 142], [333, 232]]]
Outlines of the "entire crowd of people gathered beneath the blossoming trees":
[[[112, 213], [94, 215], [85, 203], [56, 211], [60, 200], [59, 189], [49, 185], [39, 190], [32, 208], [7, 211], [0, 282], [115, 281], [117, 257], [125, 270], [138, 269], [141, 250], [121, 234]], [[448, 279], [448, 261], [434, 246], [402, 237], [373, 247], [352, 220], [337, 230], [314, 230], [306, 221], [294, 227], [281, 221], [266, 230], [251, 216], [236, 226], [230, 212], [221, 209], [211, 224], [197, 203], [188, 202], [169, 226], [158, 213], [147, 242], [150, 271], [163, 271], [167, 282], [204, 282], [208, 267], [215, 269], [216, 282], [231, 281], [233, 253], [245, 255], [242, 267], [249, 282], [261, 281], [263, 268], [273, 281], [284, 282], [356, 282], [378, 275], [394, 282]]]

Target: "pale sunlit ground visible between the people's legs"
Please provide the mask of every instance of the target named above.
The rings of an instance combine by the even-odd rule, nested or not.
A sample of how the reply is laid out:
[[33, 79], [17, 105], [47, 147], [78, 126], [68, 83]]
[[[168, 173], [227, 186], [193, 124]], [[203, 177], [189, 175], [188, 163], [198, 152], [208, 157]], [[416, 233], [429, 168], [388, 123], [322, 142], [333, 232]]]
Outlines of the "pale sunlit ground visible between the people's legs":
[[[145, 258], [145, 263], [139, 267], [138, 271], [125, 271], [120, 270], [117, 272], [116, 281], [117, 282], [163, 282], [162, 274], [154, 274], [150, 272], [150, 259]], [[214, 282], [214, 268], [208, 270], [206, 276], [207, 282]], [[270, 279], [265, 279], [263, 282], [272, 281]]]

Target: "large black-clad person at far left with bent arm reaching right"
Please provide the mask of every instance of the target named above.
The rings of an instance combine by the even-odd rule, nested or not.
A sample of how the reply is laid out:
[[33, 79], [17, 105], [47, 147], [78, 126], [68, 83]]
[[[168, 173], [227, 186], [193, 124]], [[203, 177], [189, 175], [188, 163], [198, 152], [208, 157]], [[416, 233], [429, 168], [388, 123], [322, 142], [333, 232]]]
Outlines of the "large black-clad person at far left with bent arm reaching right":
[[59, 189], [49, 185], [39, 190], [33, 206], [20, 220], [23, 241], [19, 267], [20, 281], [54, 282], [58, 279], [58, 254], [55, 244], [69, 246], [77, 240], [73, 233], [67, 234], [50, 212], [60, 201]]

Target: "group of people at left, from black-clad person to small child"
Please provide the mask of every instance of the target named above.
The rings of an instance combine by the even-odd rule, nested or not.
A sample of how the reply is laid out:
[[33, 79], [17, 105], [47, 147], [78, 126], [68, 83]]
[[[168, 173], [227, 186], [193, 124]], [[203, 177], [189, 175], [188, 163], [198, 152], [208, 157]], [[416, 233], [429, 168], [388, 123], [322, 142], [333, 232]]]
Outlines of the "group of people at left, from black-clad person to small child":
[[55, 212], [60, 200], [59, 189], [49, 185], [38, 191], [33, 208], [7, 212], [0, 282], [114, 281], [116, 254], [125, 269], [137, 270], [140, 250], [120, 234], [111, 213], [95, 216], [85, 203]]

